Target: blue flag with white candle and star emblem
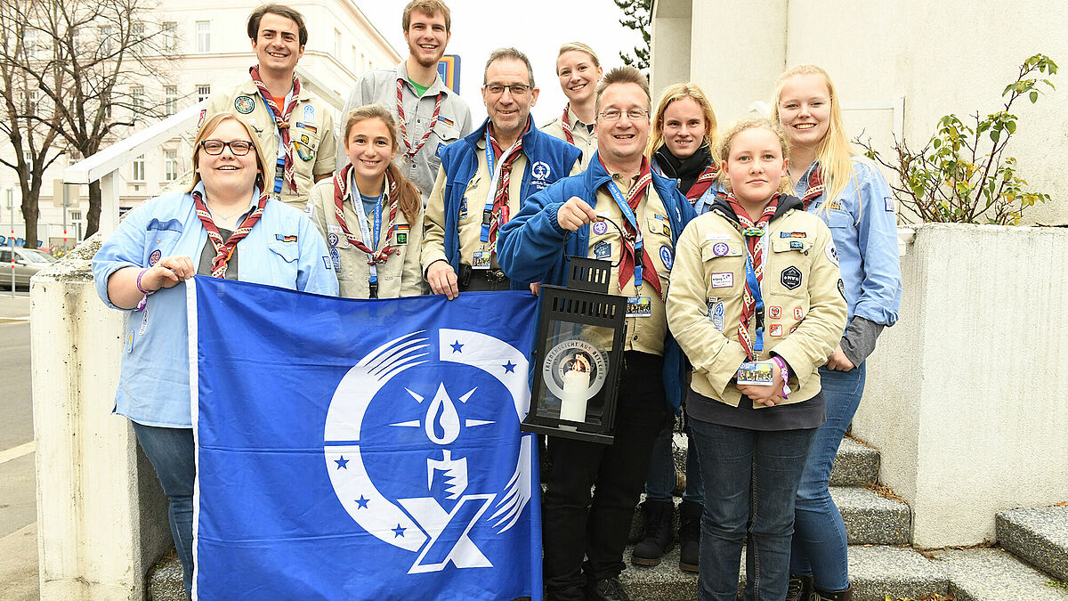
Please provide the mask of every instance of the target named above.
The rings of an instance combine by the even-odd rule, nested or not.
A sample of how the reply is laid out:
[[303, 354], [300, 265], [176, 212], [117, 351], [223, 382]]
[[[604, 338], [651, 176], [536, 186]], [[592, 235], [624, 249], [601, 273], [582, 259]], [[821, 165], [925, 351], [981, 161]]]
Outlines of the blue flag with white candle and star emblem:
[[540, 599], [536, 298], [194, 281], [194, 598]]

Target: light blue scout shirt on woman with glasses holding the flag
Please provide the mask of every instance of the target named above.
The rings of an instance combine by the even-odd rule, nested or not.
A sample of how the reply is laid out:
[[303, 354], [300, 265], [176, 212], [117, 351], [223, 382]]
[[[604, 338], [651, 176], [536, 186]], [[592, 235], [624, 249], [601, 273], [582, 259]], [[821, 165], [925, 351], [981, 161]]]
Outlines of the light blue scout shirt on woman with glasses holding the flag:
[[[203, 184], [197, 189], [203, 194]], [[258, 198], [256, 189], [250, 210]], [[206, 242], [207, 230], [197, 217], [191, 194], [156, 197], [130, 211], [93, 258], [96, 292], [107, 306], [119, 309], [108, 299], [111, 274], [170, 256], [189, 257], [198, 265]], [[260, 221], [237, 243], [237, 253], [241, 281], [337, 294], [323, 236], [307, 215], [281, 201], [267, 201]], [[114, 412], [144, 426], [190, 428], [186, 284], [150, 294], [143, 311], [124, 312]]]

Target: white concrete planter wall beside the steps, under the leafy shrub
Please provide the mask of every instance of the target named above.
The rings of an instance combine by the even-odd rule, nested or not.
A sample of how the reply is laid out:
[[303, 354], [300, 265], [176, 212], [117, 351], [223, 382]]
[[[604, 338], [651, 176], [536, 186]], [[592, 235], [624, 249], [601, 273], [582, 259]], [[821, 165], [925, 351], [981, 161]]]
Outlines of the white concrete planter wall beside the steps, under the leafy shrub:
[[993, 540], [994, 513], [1068, 494], [1068, 230], [925, 225], [853, 433], [916, 546]]

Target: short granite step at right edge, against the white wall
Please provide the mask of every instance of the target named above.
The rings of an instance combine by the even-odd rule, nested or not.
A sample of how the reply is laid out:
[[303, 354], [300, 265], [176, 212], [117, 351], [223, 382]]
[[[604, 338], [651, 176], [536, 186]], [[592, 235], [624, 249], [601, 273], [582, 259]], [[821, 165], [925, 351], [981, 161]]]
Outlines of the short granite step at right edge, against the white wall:
[[1068, 581], [1068, 506], [1001, 511], [998, 543], [1059, 581]]

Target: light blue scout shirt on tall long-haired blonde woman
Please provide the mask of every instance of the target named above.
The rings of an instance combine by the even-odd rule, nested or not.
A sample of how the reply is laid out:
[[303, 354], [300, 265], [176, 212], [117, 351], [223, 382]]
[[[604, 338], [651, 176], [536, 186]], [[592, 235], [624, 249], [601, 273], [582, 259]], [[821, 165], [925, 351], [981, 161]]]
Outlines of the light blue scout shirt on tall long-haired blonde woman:
[[[894, 198], [875, 166], [855, 156], [852, 163], [857, 179], [850, 178], [838, 197], [831, 201], [827, 200], [824, 191], [808, 204], [807, 211], [818, 215], [831, 229], [846, 288], [848, 320], [851, 322], [853, 315], [860, 315], [890, 326], [897, 321], [901, 305]], [[804, 197], [815, 166], [816, 163], [810, 165], [794, 187], [798, 198]], [[826, 211], [824, 202], [829, 202]]]

